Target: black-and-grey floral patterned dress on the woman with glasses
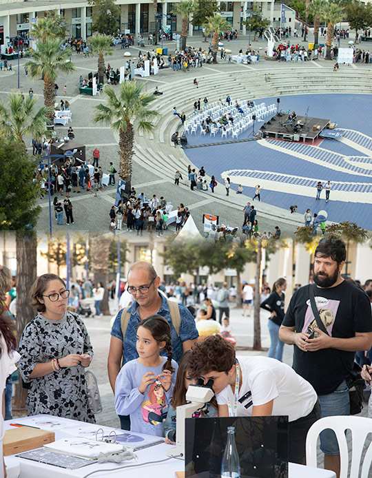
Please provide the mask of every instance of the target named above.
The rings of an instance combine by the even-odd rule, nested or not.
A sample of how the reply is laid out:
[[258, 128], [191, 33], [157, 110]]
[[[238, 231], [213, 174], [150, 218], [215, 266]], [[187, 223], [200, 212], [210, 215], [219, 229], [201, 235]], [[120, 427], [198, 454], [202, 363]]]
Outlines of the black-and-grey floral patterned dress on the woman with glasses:
[[34, 367], [70, 353], [89, 354], [92, 344], [83, 320], [67, 311], [61, 320], [49, 320], [41, 313], [22, 333], [19, 342], [21, 360], [17, 368], [27, 384], [27, 415], [48, 414], [94, 423], [94, 414], [87, 400], [85, 369], [79, 364], [63, 367], [44, 377], [29, 378]]

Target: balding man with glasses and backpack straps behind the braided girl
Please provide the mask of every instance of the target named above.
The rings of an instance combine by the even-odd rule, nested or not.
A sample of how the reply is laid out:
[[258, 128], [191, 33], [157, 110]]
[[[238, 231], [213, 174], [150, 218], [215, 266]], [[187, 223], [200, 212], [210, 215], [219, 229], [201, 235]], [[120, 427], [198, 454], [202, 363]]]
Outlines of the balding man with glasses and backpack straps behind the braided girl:
[[[128, 272], [127, 291], [133, 295], [134, 303], [116, 315], [111, 331], [107, 370], [112, 391], [122, 364], [138, 358], [136, 351], [136, 329], [141, 320], [154, 313], [162, 315], [171, 327], [173, 358], [177, 362], [183, 352], [192, 348], [198, 338], [195, 320], [188, 309], [176, 302], [168, 302], [158, 292], [161, 278], [152, 264], [135, 262]], [[121, 428], [130, 430], [129, 417], [121, 417]]]

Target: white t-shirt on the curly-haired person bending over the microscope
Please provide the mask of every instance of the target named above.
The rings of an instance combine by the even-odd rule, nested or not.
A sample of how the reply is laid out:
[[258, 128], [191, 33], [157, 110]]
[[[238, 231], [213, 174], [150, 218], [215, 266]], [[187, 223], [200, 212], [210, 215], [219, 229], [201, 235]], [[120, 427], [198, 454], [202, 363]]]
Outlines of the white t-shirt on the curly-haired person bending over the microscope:
[[[316, 404], [318, 396], [311, 384], [300, 377], [293, 368], [279, 360], [269, 357], [237, 357], [240, 364], [242, 386], [238, 393], [238, 417], [250, 417], [252, 407], [245, 405], [252, 402], [254, 406], [263, 405], [273, 399], [271, 415], [288, 415], [289, 422], [306, 417]], [[239, 398], [247, 397], [241, 404]], [[234, 406], [234, 392], [227, 386], [216, 396], [217, 403]]]

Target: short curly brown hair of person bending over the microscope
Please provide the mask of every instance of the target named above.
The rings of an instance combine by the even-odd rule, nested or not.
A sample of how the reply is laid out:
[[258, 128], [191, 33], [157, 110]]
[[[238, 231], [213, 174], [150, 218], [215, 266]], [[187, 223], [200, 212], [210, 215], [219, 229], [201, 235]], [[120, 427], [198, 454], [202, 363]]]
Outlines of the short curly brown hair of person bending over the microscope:
[[200, 378], [211, 371], [227, 373], [235, 360], [234, 346], [220, 335], [211, 335], [194, 345], [189, 357], [190, 375]]

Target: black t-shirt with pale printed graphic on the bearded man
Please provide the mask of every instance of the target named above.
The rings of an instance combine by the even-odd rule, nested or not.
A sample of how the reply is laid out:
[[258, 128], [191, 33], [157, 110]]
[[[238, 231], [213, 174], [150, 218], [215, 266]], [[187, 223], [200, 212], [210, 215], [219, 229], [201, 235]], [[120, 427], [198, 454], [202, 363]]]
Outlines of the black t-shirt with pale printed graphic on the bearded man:
[[[309, 285], [293, 294], [282, 325], [296, 326], [296, 332], [307, 333], [316, 325], [309, 299]], [[372, 331], [371, 304], [368, 295], [344, 280], [336, 287], [314, 291], [320, 318], [331, 337], [350, 338], [355, 332]], [[293, 368], [315, 388], [318, 395], [332, 393], [353, 367], [355, 352], [322, 349], [304, 352], [295, 345]], [[341, 358], [342, 357], [342, 358]]]

